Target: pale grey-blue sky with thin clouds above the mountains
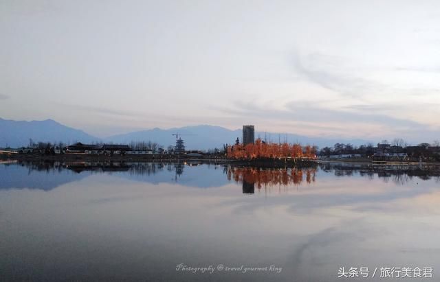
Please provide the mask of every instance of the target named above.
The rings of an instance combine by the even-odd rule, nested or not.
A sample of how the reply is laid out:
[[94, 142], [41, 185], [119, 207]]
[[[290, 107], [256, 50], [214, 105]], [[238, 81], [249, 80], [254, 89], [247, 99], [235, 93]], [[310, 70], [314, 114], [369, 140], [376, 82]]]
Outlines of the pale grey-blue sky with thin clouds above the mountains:
[[440, 139], [439, 1], [0, 0], [0, 117]]

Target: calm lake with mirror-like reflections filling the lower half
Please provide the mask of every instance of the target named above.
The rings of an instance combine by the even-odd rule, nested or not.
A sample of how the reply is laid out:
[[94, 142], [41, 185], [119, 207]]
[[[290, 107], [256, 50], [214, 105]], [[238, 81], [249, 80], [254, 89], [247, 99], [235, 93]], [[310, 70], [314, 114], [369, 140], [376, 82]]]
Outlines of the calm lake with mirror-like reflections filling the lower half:
[[438, 281], [439, 180], [422, 166], [3, 162], [0, 281]]

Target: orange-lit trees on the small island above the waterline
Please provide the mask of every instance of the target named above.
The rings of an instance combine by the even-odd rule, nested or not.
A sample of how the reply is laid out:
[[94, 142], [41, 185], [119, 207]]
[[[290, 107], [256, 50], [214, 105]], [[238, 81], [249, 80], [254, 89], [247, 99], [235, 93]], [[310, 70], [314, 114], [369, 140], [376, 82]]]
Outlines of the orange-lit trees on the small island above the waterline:
[[247, 145], [236, 144], [228, 147], [228, 158], [316, 158], [316, 148], [289, 143], [265, 143], [257, 139]]

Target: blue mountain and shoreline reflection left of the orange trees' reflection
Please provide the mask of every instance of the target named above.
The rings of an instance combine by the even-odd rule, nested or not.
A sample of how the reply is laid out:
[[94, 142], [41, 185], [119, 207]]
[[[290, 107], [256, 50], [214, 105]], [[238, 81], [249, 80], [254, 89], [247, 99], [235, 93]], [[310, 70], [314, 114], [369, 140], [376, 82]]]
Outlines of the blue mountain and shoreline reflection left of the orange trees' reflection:
[[[202, 165], [203, 164], [203, 165]], [[188, 169], [186, 168], [188, 165]], [[175, 183], [186, 187], [221, 187], [228, 183], [219, 170], [223, 167], [209, 161], [175, 162], [59, 162], [14, 161], [0, 164], [0, 190], [8, 188], [54, 189], [64, 183], [94, 174], [111, 174], [142, 183]], [[184, 171], [185, 170], [185, 171]]]

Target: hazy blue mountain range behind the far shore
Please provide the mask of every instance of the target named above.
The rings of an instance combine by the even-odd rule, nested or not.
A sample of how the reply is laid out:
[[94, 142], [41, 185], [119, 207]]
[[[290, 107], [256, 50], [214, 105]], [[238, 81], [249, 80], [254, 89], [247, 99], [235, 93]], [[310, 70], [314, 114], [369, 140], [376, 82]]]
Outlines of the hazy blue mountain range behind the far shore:
[[[229, 130], [220, 126], [185, 126], [181, 128], [160, 129], [153, 128], [149, 130], [141, 130], [129, 132], [126, 134], [118, 134], [111, 137], [99, 138], [91, 134], [70, 128], [58, 123], [52, 119], [43, 121], [14, 121], [0, 118], [0, 147], [19, 148], [30, 143], [30, 139], [34, 142], [50, 141], [57, 143], [74, 143], [80, 141], [83, 143], [91, 143], [94, 141], [113, 142], [113, 143], [130, 143], [131, 141], [153, 141], [163, 145], [175, 145], [175, 136], [178, 133], [181, 139], [184, 139], [188, 150], [208, 150], [212, 148], [222, 148], [223, 144], [232, 144], [238, 137], [241, 139], [241, 129]], [[267, 141], [287, 141], [288, 143], [301, 143], [318, 145], [322, 148], [331, 146], [335, 143], [352, 143], [353, 145], [361, 145], [369, 143], [369, 140], [362, 139], [328, 139], [325, 137], [307, 137], [299, 134], [284, 134], [276, 132], [255, 132], [255, 138], [267, 139]]]

